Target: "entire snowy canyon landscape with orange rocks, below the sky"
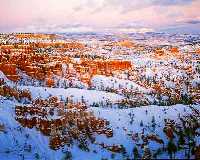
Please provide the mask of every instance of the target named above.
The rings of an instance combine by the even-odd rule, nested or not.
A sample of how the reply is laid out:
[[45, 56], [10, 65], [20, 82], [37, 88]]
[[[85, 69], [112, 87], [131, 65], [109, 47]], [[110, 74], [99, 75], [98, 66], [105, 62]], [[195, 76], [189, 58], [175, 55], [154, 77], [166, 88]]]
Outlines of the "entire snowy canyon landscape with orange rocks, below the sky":
[[[121, 36], [111, 34], [111, 38], [103, 33], [63, 35], [68, 40], [55, 40], [61, 42], [59, 46], [46, 38], [20, 42], [10, 35], [6, 46], [0, 45], [11, 47], [0, 55], [0, 160], [133, 159], [135, 147], [141, 156], [148, 147], [153, 158], [161, 152], [156, 158], [169, 159], [170, 140], [178, 148], [174, 158], [185, 159], [191, 137], [186, 133], [188, 128], [177, 123], [182, 125], [185, 119], [181, 118], [190, 113], [199, 121], [200, 115], [194, 114], [192, 107], [199, 113], [200, 56], [196, 51], [200, 48], [186, 45], [185, 36], [151, 34], [129, 35], [135, 44], [131, 48], [115, 46], [124, 39]], [[85, 45], [80, 52], [76, 47], [68, 50], [68, 45], [62, 46], [76, 40]], [[14, 56], [18, 42], [27, 46], [33, 41], [49, 43], [48, 49], [34, 45], [36, 54], [19, 50], [25, 58]], [[178, 50], [176, 54], [171, 52], [173, 46]], [[64, 55], [61, 50], [66, 50]], [[124, 68], [123, 63], [118, 64], [124, 60], [131, 65]], [[12, 67], [4, 68], [6, 63]], [[29, 71], [31, 66], [36, 69], [34, 75]], [[20, 80], [12, 82], [8, 78], [15, 71]], [[49, 82], [52, 84], [47, 85]], [[168, 104], [171, 106], [159, 106]], [[199, 122], [193, 122], [189, 129], [196, 129], [193, 125]], [[174, 136], [169, 136], [170, 129]], [[179, 131], [185, 136], [183, 144], [179, 144]], [[199, 131], [189, 133], [196, 148], [200, 146]]]

